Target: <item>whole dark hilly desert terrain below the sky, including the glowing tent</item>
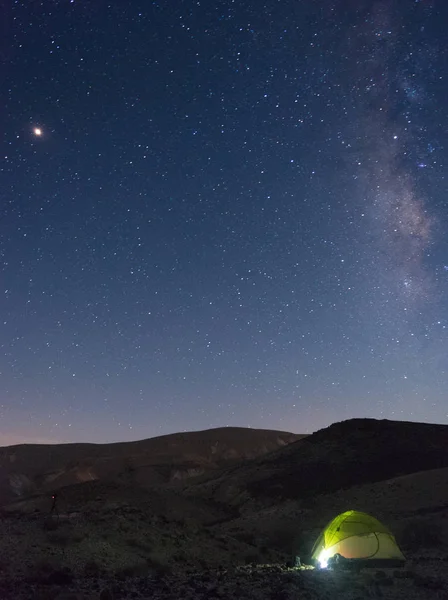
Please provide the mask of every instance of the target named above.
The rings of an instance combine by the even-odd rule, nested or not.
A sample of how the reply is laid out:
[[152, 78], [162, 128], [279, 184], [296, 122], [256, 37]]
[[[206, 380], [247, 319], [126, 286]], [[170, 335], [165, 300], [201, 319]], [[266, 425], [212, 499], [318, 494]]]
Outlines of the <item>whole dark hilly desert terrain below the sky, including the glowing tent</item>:
[[446, 598], [448, 426], [195, 435], [2, 448], [1, 598]]

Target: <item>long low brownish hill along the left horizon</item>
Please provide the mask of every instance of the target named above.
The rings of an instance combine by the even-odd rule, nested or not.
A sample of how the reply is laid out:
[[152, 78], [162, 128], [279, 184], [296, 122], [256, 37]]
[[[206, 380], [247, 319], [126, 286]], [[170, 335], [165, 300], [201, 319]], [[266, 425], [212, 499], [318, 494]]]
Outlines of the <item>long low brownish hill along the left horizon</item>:
[[22, 444], [0, 448], [0, 504], [35, 492], [103, 480], [148, 486], [249, 460], [302, 436], [223, 427], [114, 444]]

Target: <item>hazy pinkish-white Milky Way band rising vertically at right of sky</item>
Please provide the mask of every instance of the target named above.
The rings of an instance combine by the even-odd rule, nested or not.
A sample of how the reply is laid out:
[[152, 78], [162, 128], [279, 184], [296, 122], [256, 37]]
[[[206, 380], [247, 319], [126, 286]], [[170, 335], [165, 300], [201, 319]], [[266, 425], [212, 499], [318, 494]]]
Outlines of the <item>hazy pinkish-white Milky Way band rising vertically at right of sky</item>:
[[[371, 273], [377, 274], [383, 299], [397, 304], [408, 319], [436, 294], [434, 268], [426, 258], [437, 215], [419, 188], [416, 167], [430, 160], [429, 152], [421, 151], [425, 142], [427, 148], [431, 144], [419, 113], [427, 104], [425, 78], [437, 44], [419, 40], [397, 5], [388, 2], [374, 3], [355, 29], [353, 49], [365, 60], [358, 61], [354, 75], [361, 117], [353, 145], [362, 156], [358, 193], [370, 219]], [[422, 22], [420, 36], [424, 30]], [[412, 164], [415, 154], [419, 161]]]

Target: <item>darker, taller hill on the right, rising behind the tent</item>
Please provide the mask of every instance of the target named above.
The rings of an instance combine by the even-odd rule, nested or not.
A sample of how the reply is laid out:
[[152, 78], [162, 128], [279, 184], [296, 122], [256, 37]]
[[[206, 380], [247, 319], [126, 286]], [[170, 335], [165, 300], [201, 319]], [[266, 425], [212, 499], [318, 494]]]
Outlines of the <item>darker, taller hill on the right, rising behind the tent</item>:
[[448, 467], [448, 425], [351, 419], [240, 468], [194, 482], [196, 493], [242, 505], [272, 504]]

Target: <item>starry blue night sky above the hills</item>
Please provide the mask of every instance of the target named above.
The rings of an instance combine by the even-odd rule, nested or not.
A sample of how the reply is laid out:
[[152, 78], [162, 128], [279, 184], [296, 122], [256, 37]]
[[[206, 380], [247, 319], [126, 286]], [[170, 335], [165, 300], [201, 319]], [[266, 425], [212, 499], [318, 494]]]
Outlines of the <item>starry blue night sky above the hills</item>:
[[0, 444], [448, 422], [445, 0], [6, 0]]

